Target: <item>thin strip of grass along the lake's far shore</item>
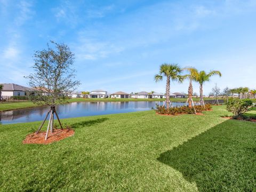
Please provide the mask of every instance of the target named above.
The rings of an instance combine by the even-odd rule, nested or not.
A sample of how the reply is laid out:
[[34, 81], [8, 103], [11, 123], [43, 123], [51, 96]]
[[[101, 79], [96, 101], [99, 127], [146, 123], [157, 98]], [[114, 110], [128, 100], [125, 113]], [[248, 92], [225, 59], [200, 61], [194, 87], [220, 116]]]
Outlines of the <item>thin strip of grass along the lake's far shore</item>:
[[[65, 103], [68, 102], [97, 102], [97, 101], [164, 101], [164, 99], [83, 99], [83, 98], [73, 98], [68, 99]], [[187, 99], [171, 99], [172, 102], [186, 102]], [[194, 101], [199, 101], [198, 98], [195, 98]], [[0, 103], [0, 111], [21, 109], [28, 107], [36, 107], [37, 105], [33, 102], [15, 102], [15, 103]]]

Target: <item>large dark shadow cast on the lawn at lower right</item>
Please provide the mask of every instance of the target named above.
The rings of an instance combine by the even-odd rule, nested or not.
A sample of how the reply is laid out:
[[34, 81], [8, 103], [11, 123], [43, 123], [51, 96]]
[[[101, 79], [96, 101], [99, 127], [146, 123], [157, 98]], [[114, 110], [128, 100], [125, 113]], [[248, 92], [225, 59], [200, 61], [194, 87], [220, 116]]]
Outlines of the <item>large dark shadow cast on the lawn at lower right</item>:
[[199, 191], [253, 191], [255, 137], [253, 123], [227, 120], [162, 153], [158, 161], [195, 182]]

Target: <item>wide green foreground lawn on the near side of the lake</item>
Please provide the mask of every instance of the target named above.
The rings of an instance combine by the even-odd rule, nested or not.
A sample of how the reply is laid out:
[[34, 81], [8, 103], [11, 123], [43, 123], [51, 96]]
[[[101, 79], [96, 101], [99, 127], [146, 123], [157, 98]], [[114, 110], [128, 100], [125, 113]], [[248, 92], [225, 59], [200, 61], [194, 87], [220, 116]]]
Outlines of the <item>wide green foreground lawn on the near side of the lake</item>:
[[22, 145], [40, 122], [0, 125], [0, 191], [255, 191], [256, 124], [213, 109], [63, 119], [46, 146]]

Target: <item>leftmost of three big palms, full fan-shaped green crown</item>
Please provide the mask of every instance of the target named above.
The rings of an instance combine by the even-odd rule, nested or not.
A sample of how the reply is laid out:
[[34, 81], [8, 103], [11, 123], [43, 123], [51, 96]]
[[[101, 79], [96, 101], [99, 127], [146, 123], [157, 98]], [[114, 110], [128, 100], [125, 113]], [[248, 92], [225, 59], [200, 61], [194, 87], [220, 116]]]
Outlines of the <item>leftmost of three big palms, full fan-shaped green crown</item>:
[[163, 80], [163, 76], [166, 77], [166, 107], [169, 109], [170, 104], [170, 81], [178, 81], [181, 83], [186, 76], [182, 76], [183, 69], [178, 64], [164, 63], [160, 66], [159, 74], [155, 75], [155, 82]]

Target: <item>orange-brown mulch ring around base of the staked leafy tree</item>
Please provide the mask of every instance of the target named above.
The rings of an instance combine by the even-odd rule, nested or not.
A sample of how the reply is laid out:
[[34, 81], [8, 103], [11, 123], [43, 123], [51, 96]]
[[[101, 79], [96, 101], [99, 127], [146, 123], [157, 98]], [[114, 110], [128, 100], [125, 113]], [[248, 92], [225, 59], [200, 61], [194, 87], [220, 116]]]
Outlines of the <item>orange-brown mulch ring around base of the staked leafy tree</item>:
[[23, 140], [23, 144], [44, 144], [47, 145], [49, 143], [60, 141], [67, 137], [71, 137], [74, 135], [75, 131], [72, 129], [55, 129], [53, 133], [49, 131], [48, 138], [45, 141], [46, 131], [36, 133], [31, 133], [26, 136]]

